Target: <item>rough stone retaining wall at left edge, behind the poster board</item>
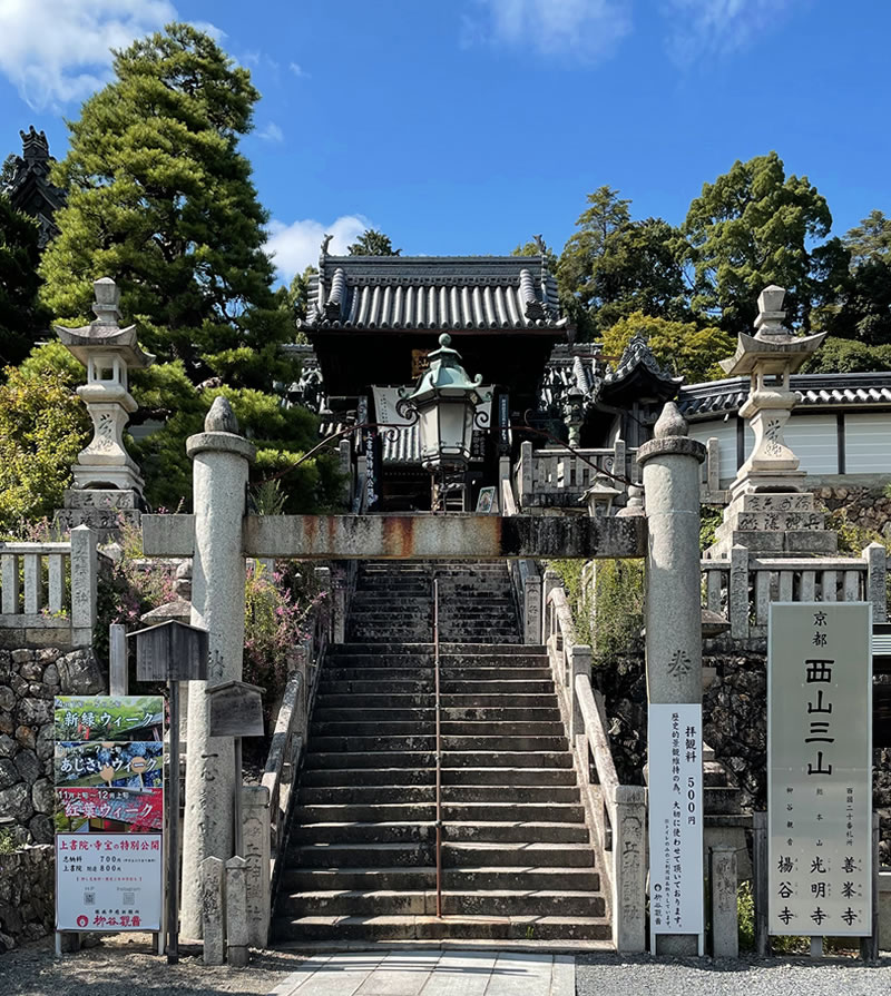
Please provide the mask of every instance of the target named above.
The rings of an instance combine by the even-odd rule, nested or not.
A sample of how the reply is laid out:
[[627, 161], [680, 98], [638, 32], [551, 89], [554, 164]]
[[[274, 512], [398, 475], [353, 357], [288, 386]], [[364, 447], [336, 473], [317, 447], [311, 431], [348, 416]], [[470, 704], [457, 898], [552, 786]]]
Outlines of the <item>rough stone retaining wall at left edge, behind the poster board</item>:
[[0, 816], [17, 844], [52, 842], [53, 697], [104, 689], [90, 650], [0, 650]]

